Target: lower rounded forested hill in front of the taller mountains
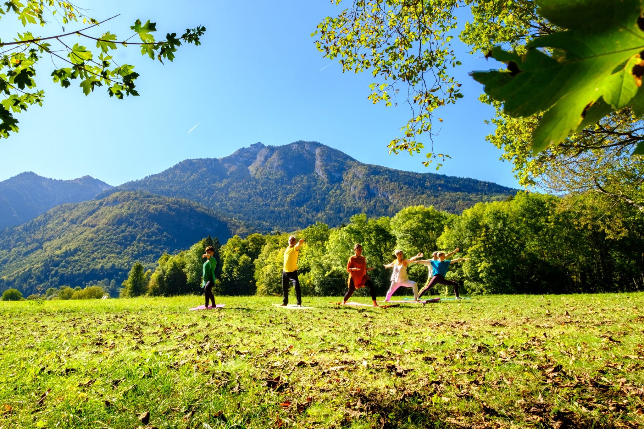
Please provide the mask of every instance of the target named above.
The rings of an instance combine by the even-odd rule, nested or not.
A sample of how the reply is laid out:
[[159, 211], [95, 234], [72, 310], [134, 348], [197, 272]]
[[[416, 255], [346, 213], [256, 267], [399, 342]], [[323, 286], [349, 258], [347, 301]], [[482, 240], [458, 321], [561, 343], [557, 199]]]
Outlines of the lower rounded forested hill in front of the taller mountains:
[[97, 282], [115, 289], [137, 260], [152, 268], [164, 252], [185, 250], [207, 235], [225, 242], [234, 230], [202, 205], [146, 192], [60, 205], [0, 231], [0, 291], [15, 287], [26, 296]]

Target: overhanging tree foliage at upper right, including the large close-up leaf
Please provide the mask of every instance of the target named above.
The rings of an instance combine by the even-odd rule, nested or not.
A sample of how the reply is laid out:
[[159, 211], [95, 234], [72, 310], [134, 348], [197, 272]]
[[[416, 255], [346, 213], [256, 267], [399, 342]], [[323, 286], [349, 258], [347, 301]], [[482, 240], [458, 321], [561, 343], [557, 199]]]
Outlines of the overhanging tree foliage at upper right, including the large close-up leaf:
[[[504, 150], [502, 160], [514, 164], [521, 185], [591, 191], [601, 205], [644, 214], [641, 0], [348, 3], [317, 26], [317, 48], [339, 59], [343, 71], [370, 71], [374, 102], [391, 102], [402, 91], [413, 106], [390, 151], [421, 152], [436, 109], [460, 98], [450, 74], [459, 66], [450, 48], [458, 34], [471, 54], [507, 63], [474, 77], [486, 84], [482, 102], [497, 110], [488, 140]], [[468, 22], [457, 18], [459, 8], [471, 11]], [[425, 164], [439, 152], [432, 145]]]

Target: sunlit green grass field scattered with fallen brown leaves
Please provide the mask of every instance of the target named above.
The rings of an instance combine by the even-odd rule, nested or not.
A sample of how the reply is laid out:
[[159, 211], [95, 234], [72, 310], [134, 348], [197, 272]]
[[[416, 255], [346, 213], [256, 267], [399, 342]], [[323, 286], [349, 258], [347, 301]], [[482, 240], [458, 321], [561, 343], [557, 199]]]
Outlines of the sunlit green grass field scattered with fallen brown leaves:
[[643, 298], [0, 302], [0, 428], [641, 428]]

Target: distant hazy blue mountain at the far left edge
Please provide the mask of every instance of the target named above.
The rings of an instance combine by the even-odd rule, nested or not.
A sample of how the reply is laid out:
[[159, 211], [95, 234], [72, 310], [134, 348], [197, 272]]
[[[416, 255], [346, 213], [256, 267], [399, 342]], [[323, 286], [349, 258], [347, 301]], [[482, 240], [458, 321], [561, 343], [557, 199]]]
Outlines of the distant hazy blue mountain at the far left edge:
[[43, 178], [24, 172], [0, 182], [0, 230], [19, 225], [63, 203], [88, 201], [112, 187], [83, 176], [73, 180]]

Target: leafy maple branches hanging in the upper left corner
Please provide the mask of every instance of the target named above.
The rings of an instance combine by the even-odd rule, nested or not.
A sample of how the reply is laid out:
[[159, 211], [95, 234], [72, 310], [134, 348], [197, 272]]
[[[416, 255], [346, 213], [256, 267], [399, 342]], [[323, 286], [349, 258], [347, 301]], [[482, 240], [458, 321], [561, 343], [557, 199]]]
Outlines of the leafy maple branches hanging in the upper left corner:
[[[24, 0], [23, 0], [24, 1]], [[167, 33], [157, 41], [156, 23], [137, 19], [130, 26], [131, 35], [120, 38], [111, 32], [97, 32], [102, 21], [90, 17], [86, 11], [62, 0], [10, 0], [5, 3], [6, 10], [0, 9], [0, 19], [14, 14], [26, 27], [47, 27], [50, 22], [62, 25], [62, 33], [39, 36], [33, 31], [19, 33], [14, 41], [0, 40], [0, 93], [5, 96], [0, 101], [0, 138], [8, 138], [10, 132], [18, 132], [15, 113], [26, 111], [30, 106], [43, 105], [44, 91], [38, 89], [35, 77], [37, 66], [43, 58], [52, 59], [53, 64], [62, 62], [64, 67], [54, 66], [51, 72], [53, 82], [62, 87], [70, 87], [72, 80], [78, 80], [85, 95], [95, 88], [106, 86], [108, 95], [122, 99], [126, 95], [137, 96], [136, 80], [139, 77], [132, 64], [118, 64], [114, 51], [129, 45], [140, 48], [142, 55], [163, 62], [175, 59], [175, 52], [182, 43], [199, 45], [205, 27], [187, 29], [181, 36]], [[60, 20], [59, 20], [60, 17]], [[81, 20], [87, 24], [81, 30], [65, 32], [65, 25]], [[71, 45], [69, 36], [81, 37], [81, 42]], [[133, 37], [137, 39], [131, 41]], [[139, 40], [139, 41], [137, 41]]]

